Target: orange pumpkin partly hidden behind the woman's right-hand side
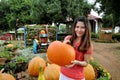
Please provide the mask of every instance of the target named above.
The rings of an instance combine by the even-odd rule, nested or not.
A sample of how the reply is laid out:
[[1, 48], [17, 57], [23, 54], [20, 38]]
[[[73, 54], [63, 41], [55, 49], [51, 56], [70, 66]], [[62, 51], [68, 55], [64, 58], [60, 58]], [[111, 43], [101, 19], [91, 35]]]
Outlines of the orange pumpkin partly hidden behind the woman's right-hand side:
[[84, 68], [85, 80], [95, 80], [95, 71], [93, 67], [88, 64], [87, 67]]

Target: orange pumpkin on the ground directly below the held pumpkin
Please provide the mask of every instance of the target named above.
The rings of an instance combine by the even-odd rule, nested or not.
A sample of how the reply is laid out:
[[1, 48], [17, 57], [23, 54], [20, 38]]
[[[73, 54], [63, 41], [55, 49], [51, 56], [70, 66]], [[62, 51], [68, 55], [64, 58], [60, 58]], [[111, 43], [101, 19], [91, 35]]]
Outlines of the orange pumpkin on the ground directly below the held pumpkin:
[[45, 80], [59, 80], [60, 66], [49, 64], [44, 70]]

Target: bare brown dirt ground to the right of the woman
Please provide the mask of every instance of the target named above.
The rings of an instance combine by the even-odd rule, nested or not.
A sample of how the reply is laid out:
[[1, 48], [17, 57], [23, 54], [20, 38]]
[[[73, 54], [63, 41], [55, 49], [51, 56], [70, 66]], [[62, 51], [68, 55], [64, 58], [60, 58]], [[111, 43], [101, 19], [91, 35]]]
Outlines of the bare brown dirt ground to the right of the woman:
[[120, 43], [93, 42], [93, 57], [106, 68], [112, 80], [120, 80]]

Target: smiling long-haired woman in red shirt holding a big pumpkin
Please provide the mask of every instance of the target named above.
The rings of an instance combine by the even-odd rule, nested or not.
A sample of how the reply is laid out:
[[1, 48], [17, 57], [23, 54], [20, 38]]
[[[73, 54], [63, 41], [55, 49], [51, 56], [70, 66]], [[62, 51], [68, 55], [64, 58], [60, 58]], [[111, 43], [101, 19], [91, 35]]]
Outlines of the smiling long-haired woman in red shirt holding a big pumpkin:
[[74, 21], [73, 33], [66, 36], [63, 43], [74, 47], [75, 60], [70, 65], [61, 67], [59, 80], [85, 80], [84, 67], [87, 66], [93, 52], [90, 27], [86, 17], [79, 17]]

